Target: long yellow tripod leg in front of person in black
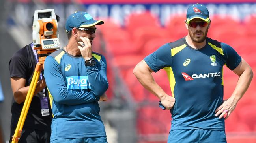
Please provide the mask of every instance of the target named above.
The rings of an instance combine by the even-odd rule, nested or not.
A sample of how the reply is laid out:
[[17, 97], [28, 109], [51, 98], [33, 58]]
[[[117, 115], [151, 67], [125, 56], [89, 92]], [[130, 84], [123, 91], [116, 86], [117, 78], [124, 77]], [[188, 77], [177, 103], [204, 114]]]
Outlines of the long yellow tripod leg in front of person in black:
[[33, 77], [32, 77], [32, 81], [30, 83], [30, 87], [28, 89], [26, 100], [24, 102], [24, 105], [23, 105], [23, 108], [22, 108], [22, 111], [21, 111], [21, 116], [19, 118], [19, 121], [18, 121], [17, 127], [15, 129], [15, 133], [13, 135], [11, 143], [18, 143], [19, 138], [21, 137], [22, 128], [23, 128], [26, 116], [28, 114], [28, 109], [30, 107], [30, 103], [31, 103], [32, 98], [34, 96], [37, 81], [39, 79], [41, 71], [42, 71], [42, 65], [40, 63], [37, 63], [34, 74], [33, 74]]

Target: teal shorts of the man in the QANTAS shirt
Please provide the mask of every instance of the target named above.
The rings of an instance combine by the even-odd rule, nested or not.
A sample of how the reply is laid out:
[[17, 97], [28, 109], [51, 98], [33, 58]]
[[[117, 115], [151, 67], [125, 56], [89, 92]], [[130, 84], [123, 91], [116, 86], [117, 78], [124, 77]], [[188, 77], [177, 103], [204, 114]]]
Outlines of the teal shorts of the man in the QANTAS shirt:
[[168, 143], [227, 143], [224, 130], [171, 130]]

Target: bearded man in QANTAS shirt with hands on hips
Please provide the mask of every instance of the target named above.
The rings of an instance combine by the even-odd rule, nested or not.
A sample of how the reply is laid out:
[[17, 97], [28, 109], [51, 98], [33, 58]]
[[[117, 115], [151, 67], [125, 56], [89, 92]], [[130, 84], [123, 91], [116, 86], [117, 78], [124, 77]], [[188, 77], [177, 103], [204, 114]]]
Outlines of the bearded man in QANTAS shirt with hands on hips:
[[[164, 44], [133, 70], [140, 83], [160, 99], [161, 107], [172, 114], [168, 143], [226, 143], [224, 119], [252, 80], [252, 69], [232, 47], [207, 37], [210, 24], [204, 5], [190, 5], [185, 20], [188, 35]], [[239, 76], [227, 100], [223, 100], [224, 65]], [[160, 69], [168, 74], [172, 96], [151, 76]]]

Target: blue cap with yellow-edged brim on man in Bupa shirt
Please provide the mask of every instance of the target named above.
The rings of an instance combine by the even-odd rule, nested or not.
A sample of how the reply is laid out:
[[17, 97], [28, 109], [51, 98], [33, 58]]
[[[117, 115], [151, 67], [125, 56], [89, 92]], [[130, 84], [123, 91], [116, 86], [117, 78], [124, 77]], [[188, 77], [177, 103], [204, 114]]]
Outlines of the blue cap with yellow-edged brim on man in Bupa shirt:
[[89, 13], [78, 11], [71, 14], [67, 18], [66, 22], [66, 31], [71, 31], [74, 27], [90, 27], [93, 25], [101, 25], [104, 24], [102, 20], [94, 20]]

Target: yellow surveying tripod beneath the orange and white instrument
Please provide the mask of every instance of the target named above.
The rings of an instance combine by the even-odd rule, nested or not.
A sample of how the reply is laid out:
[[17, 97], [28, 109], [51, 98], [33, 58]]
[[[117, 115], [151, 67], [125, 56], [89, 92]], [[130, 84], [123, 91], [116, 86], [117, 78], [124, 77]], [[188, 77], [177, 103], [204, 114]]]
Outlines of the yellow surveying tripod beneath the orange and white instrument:
[[[40, 49], [38, 47], [35, 47], [34, 49]], [[30, 107], [30, 103], [32, 101], [32, 98], [34, 96], [35, 93], [35, 89], [36, 89], [36, 85], [37, 85], [37, 81], [39, 79], [40, 73], [43, 69], [43, 64], [45, 62], [45, 58], [47, 55], [49, 55], [50, 53], [56, 51], [56, 49], [54, 50], [50, 50], [50, 51], [37, 51], [37, 54], [39, 55], [38, 58], [38, 63], [36, 64], [35, 70], [34, 70], [34, 74], [30, 83], [30, 87], [28, 89], [28, 93], [26, 96], [26, 100], [24, 102], [22, 111], [21, 111], [21, 115], [17, 124], [17, 127], [15, 129], [15, 133], [13, 135], [12, 141], [11, 143], [18, 143], [19, 139], [21, 138], [21, 134], [22, 134], [22, 128], [26, 119], [26, 116], [28, 114], [28, 109]], [[43, 55], [43, 56], [40, 56]]]

